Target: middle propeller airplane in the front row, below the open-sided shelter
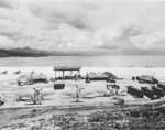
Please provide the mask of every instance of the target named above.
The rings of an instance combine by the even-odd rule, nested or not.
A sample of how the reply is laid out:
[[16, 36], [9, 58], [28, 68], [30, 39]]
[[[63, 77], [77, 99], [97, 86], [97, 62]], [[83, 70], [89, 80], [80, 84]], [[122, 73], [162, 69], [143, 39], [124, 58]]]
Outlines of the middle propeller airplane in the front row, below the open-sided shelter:
[[76, 85], [76, 93], [61, 93], [64, 96], [69, 96], [72, 98], [76, 98], [76, 102], [79, 102], [79, 98], [87, 98], [86, 96], [92, 95], [94, 93], [81, 93], [82, 89]]

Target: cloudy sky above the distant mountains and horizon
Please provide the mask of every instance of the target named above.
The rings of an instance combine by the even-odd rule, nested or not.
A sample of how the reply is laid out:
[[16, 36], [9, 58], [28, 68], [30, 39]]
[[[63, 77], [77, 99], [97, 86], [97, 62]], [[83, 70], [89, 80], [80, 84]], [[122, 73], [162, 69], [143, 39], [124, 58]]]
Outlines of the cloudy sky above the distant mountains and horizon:
[[165, 1], [0, 0], [0, 48], [165, 51]]

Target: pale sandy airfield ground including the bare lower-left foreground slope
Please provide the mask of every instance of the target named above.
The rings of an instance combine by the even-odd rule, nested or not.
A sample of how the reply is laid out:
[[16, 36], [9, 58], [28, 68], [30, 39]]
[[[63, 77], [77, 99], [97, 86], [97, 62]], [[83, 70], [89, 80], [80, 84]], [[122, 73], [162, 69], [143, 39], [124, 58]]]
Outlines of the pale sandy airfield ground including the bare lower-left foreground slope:
[[[29, 126], [34, 126], [37, 123], [37, 118], [38, 119], [48, 119], [52, 115], [55, 115], [56, 112], [58, 113], [67, 113], [68, 110], [62, 111], [61, 107], [69, 107], [74, 108], [75, 106], [84, 106], [86, 107], [91, 107], [92, 110], [98, 110], [95, 109], [96, 106], [105, 106], [108, 104], [108, 109], [110, 108], [116, 108], [114, 102], [117, 100], [113, 100], [113, 97], [103, 97], [102, 95], [99, 95], [96, 93], [96, 90], [106, 90], [106, 85], [111, 84], [111, 83], [106, 83], [106, 82], [91, 82], [90, 84], [86, 84], [85, 80], [57, 80], [57, 82], [50, 82], [47, 84], [35, 84], [35, 85], [25, 85], [25, 86], [18, 86], [16, 85], [16, 78], [20, 77], [22, 74], [26, 72], [41, 72], [44, 73], [48, 78], [54, 77], [54, 71], [53, 67], [0, 67], [0, 72], [8, 69], [9, 73], [6, 75], [0, 75], [0, 95], [4, 94], [6, 98], [6, 104], [3, 106], [0, 106], [0, 127], [4, 124], [14, 124], [14, 123], [29, 123]], [[21, 71], [22, 73], [20, 75], [13, 75], [13, 72], [15, 71]], [[85, 67], [81, 69], [81, 75], [86, 75], [87, 72], [106, 72], [109, 71], [117, 75], [118, 77], [124, 78], [123, 80], [117, 80], [117, 85], [120, 86], [121, 90], [127, 90], [128, 85], [132, 85], [136, 88], [141, 88], [142, 86], [148, 86], [147, 84], [139, 84], [138, 82], [133, 82], [131, 79], [132, 76], [136, 75], [152, 75], [155, 72], [155, 77], [158, 78], [162, 83], [164, 83], [164, 74], [165, 74], [165, 68], [108, 68], [108, 67]], [[61, 75], [61, 74], [58, 74]], [[63, 90], [54, 90], [54, 84], [56, 83], [63, 83], [65, 84], [65, 89]], [[75, 102], [74, 98], [67, 97], [67, 96], [62, 96], [61, 93], [63, 91], [70, 91], [75, 93], [76, 87], [75, 85], [78, 85], [79, 87], [84, 87], [85, 89], [82, 93], [94, 93], [94, 97], [90, 98], [80, 98], [80, 102]], [[31, 94], [33, 96], [33, 88], [40, 89], [43, 88], [42, 93], [46, 94], [52, 94], [50, 96], [44, 97], [44, 100], [41, 101], [41, 105], [33, 105], [32, 100], [26, 98], [24, 101], [15, 101], [16, 95], [18, 94]], [[151, 102], [151, 101], [156, 101], [156, 100], [150, 100], [147, 97], [144, 98], [134, 98], [131, 95], [122, 96], [120, 98], [123, 98], [125, 100], [125, 104], [134, 104], [136, 105], [138, 102]], [[103, 105], [105, 104], [105, 105]], [[52, 110], [52, 107], [46, 107], [46, 106], [55, 106], [56, 108], [59, 108], [57, 110]], [[29, 108], [30, 107], [30, 108]], [[29, 117], [29, 115], [33, 111], [33, 109], [37, 110], [43, 110], [44, 112], [41, 115], [37, 115], [36, 117], [32, 118]], [[21, 108], [21, 109], [8, 109], [8, 108]], [[97, 107], [96, 107], [97, 108]], [[105, 108], [105, 107], [103, 107]], [[107, 108], [107, 107], [106, 107]], [[117, 107], [118, 108], [118, 107]], [[79, 109], [75, 108], [77, 111], [80, 111]], [[103, 110], [101, 108], [101, 110]], [[47, 112], [48, 111], [48, 112]], [[72, 111], [70, 111], [72, 112]], [[87, 112], [91, 112], [89, 109], [81, 111], [81, 115], [85, 115]], [[28, 116], [28, 117], [26, 117]], [[15, 117], [20, 117], [15, 119]], [[21, 117], [25, 117], [22, 119]], [[10, 130], [6, 129], [4, 130]], [[21, 128], [22, 130], [22, 128]], [[26, 128], [24, 129], [26, 130]]]

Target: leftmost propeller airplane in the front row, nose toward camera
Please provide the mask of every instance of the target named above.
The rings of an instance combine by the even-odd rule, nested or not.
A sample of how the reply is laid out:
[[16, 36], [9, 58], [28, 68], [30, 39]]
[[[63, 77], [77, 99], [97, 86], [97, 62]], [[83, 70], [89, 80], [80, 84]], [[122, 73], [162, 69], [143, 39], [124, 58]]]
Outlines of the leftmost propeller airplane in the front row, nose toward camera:
[[50, 95], [54, 95], [55, 93], [41, 93], [41, 90], [43, 90], [43, 88], [41, 89], [34, 89], [34, 94], [18, 94], [16, 97], [16, 101], [21, 101], [23, 100], [22, 98], [30, 98], [32, 101], [33, 101], [33, 105], [36, 105], [37, 101], [42, 101], [44, 98], [43, 97], [46, 97], [46, 96], [50, 96]]

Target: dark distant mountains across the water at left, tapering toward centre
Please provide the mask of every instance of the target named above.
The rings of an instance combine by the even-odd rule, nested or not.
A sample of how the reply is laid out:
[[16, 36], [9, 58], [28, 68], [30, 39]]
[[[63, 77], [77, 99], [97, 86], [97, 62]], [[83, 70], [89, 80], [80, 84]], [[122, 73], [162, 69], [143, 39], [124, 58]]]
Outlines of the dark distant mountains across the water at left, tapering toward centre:
[[86, 54], [79, 54], [74, 52], [57, 52], [57, 51], [41, 51], [32, 50], [30, 47], [13, 48], [13, 50], [0, 50], [0, 57], [42, 57], [42, 56], [86, 56]]

